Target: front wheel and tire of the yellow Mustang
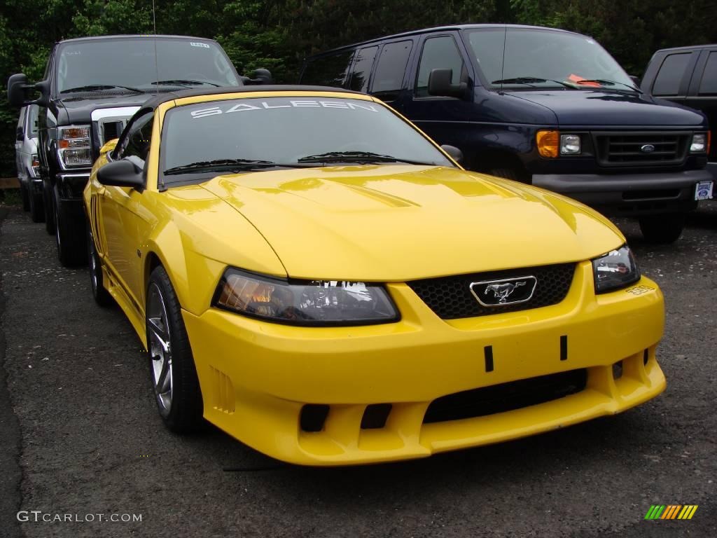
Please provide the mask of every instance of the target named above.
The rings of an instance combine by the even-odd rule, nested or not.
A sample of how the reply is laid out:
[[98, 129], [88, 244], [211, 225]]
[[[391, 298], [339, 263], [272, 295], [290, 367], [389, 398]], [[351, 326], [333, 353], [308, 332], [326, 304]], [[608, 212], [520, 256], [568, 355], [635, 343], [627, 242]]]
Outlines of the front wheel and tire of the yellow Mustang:
[[[159, 415], [167, 428], [175, 433], [201, 430], [204, 427], [204, 402], [194, 356], [181, 317], [179, 300], [161, 265], [149, 277], [145, 326], [150, 380]], [[168, 346], [162, 342], [168, 343]]]

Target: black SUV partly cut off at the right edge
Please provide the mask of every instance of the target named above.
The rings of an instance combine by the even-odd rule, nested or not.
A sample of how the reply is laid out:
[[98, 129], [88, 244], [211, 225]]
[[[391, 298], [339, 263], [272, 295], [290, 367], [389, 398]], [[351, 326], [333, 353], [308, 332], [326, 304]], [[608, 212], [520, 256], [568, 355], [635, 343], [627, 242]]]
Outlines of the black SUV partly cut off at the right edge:
[[[640, 88], [701, 110], [710, 122], [712, 139], [717, 136], [717, 44], [658, 50], [647, 64]], [[717, 179], [717, 140], [708, 161], [707, 168]]]

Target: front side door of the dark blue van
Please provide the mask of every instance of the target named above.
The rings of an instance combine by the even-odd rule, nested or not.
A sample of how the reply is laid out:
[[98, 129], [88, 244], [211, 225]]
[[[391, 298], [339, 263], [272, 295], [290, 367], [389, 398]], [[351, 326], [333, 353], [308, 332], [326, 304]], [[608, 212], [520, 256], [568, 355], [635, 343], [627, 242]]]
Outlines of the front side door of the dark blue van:
[[[438, 143], [450, 144], [467, 151], [467, 130], [473, 118], [473, 72], [462, 42], [455, 32], [427, 34], [419, 44], [420, 55], [412, 77], [410, 98], [404, 104], [404, 115]], [[466, 92], [460, 98], [429, 95], [428, 78], [434, 69], [452, 70], [451, 83], [465, 82]]]

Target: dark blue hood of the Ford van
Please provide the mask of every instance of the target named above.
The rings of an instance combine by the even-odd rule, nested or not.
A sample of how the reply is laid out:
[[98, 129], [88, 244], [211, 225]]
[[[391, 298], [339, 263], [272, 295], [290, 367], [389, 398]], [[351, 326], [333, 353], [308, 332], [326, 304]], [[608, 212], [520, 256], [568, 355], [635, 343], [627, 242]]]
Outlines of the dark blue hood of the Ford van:
[[705, 116], [669, 101], [605, 90], [513, 91], [507, 95], [552, 110], [559, 126], [705, 127]]

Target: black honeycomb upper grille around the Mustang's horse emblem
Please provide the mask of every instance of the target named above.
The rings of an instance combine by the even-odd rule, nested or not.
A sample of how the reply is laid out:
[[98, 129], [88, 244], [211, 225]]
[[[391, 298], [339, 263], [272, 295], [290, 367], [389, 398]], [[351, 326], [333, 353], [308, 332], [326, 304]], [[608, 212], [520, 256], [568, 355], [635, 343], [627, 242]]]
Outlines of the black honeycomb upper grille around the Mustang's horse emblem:
[[[426, 278], [424, 280], [413, 280], [408, 285], [440, 318], [472, 318], [474, 316], [490, 316], [495, 313], [515, 312], [557, 304], [568, 294], [574, 273], [574, 263], [562, 263], [559, 265], [492, 271], [490, 273]], [[537, 280], [533, 297], [525, 303], [483, 306], [476, 300], [473, 293], [470, 293], [470, 284], [473, 282], [524, 276], [534, 276]]]

